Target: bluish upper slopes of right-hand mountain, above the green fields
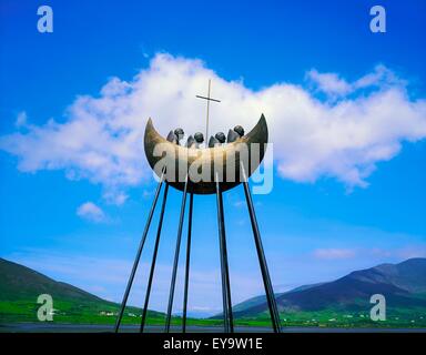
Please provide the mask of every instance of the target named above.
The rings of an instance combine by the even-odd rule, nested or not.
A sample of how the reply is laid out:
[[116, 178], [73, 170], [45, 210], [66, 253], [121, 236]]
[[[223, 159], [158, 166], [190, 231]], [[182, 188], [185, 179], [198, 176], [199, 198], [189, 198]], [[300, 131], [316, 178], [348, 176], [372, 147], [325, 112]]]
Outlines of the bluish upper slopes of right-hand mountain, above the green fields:
[[[355, 271], [333, 282], [302, 286], [276, 295], [280, 311], [366, 310], [369, 297], [383, 294], [388, 307], [426, 310], [426, 258], [382, 264]], [[267, 311], [264, 296], [236, 305], [235, 317], [253, 317]]]

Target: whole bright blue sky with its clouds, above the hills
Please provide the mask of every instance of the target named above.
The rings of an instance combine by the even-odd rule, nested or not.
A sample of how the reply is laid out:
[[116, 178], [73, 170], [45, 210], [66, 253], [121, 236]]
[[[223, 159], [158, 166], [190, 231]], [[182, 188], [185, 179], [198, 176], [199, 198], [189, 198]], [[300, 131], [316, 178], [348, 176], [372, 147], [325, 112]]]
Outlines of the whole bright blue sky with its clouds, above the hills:
[[[215, 126], [227, 130], [224, 114], [231, 122], [240, 119], [239, 111], [251, 113], [247, 101], [260, 111], [244, 118], [247, 128], [264, 109], [270, 113], [274, 189], [254, 199], [278, 291], [426, 255], [424, 2], [382, 1], [386, 33], [369, 31], [369, 8], [376, 1], [45, 3], [53, 9], [54, 30], [44, 34], [37, 31], [37, 8], [44, 2], [1, 3], [1, 256], [119, 301], [154, 182], [146, 172], [139, 175], [138, 169], [145, 166], [135, 158], [118, 155], [124, 161], [119, 168], [132, 169], [119, 176], [114, 170], [91, 169], [79, 159], [90, 144], [69, 136], [78, 133], [65, 134], [72, 144], [80, 144], [78, 154], [64, 143], [53, 144], [52, 138], [61, 130], [67, 133], [70, 121], [81, 119], [77, 109], [94, 111], [94, 104], [104, 104], [101, 100], [116, 92], [122, 100], [135, 99], [132, 109], [139, 99], [156, 100], [150, 106], [141, 104], [142, 111], [134, 109], [142, 112], [141, 123], [132, 122], [128, 129], [139, 132], [148, 115], [158, 120], [163, 134], [176, 124], [174, 119], [186, 131], [202, 129], [205, 108], [195, 99], [194, 103], [181, 102], [187, 98], [176, 101], [169, 91], [190, 92], [185, 85], [193, 82], [203, 93], [205, 87], [199, 83], [206, 83], [205, 75], [213, 75], [213, 92], [224, 100], [222, 106], [212, 109]], [[171, 73], [172, 79], [161, 81], [158, 72]], [[142, 79], [135, 79], [141, 73]], [[178, 74], [185, 80], [173, 81]], [[366, 78], [378, 79], [363, 85]], [[110, 91], [101, 91], [106, 83]], [[153, 89], [155, 83], [163, 85], [160, 91]], [[128, 97], [128, 85], [134, 95]], [[81, 95], [89, 101], [77, 101]], [[382, 110], [376, 122], [377, 102], [390, 109], [388, 113]], [[168, 115], [164, 105], [172, 106], [176, 118]], [[179, 116], [185, 108], [191, 109], [187, 119]], [[301, 114], [298, 121], [282, 113], [286, 110]], [[341, 122], [339, 110], [347, 110], [354, 131], [368, 133], [368, 143], [346, 145], [352, 131]], [[311, 122], [301, 112], [329, 115], [331, 126], [336, 128], [331, 138], [342, 135], [343, 142], [336, 144], [343, 148], [329, 149], [327, 139], [310, 142], [307, 150], [302, 139]], [[53, 128], [48, 124], [51, 119]], [[322, 132], [321, 122], [306, 132]], [[298, 134], [302, 141], [293, 143], [291, 135]], [[120, 146], [124, 148], [129, 146]], [[318, 158], [315, 151], [322, 149], [329, 153]], [[109, 153], [105, 150], [105, 156]], [[144, 161], [143, 154], [140, 160]], [[119, 203], [120, 196], [126, 196], [125, 201]], [[240, 187], [225, 194], [234, 302], [262, 293], [242, 201]], [[179, 202], [180, 194], [172, 191], [151, 304], [156, 310], [165, 307]], [[84, 203], [90, 203], [89, 212], [82, 216], [78, 210]], [[209, 313], [221, 306], [214, 197], [196, 197], [195, 206], [194, 230], [199, 232], [190, 307], [194, 313]], [[143, 263], [151, 257], [153, 237]], [[133, 304], [142, 303], [146, 274], [143, 264]]]

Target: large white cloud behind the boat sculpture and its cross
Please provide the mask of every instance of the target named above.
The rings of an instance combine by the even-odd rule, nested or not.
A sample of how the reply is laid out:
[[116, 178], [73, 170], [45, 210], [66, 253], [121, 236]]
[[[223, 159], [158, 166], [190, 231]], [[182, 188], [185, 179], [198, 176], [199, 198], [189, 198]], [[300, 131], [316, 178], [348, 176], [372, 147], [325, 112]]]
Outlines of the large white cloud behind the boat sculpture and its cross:
[[410, 99], [404, 81], [385, 67], [352, 83], [335, 73], [310, 73], [338, 100], [321, 101], [315, 91], [290, 83], [253, 91], [199, 60], [158, 54], [132, 81], [113, 78], [99, 97], [79, 97], [65, 122], [28, 124], [26, 132], [0, 138], [0, 148], [19, 158], [21, 171], [65, 170], [68, 179], [100, 183], [111, 202], [123, 203], [126, 186], [151, 174], [143, 152], [146, 119], [162, 134], [175, 126], [204, 131], [205, 103], [195, 94], [204, 93], [209, 78], [222, 100], [211, 105], [210, 132], [235, 124], [248, 131], [264, 113], [275, 166], [293, 181], [326, 176], [366, 186], [377, 162], [398, 154], [402, 142], [426, 136], [425, 100]]

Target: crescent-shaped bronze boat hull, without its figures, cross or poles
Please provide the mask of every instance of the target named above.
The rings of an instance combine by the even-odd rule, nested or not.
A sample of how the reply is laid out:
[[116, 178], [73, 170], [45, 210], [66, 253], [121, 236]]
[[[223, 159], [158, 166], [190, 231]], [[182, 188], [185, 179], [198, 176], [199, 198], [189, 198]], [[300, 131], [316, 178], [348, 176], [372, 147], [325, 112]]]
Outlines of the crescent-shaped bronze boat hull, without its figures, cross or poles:
[[[257, 124], [234, 142], [214, 148], [186, 148], [169, 142], [149, 119], [144, 148], [148, 162], [155, 174], [173, 187], [194, 194], [216, 193], [246, 181], [261, 164], [267, 145], [267, 124], [262, 114]], [[206, 138], [207, 139], [207, 138]]]

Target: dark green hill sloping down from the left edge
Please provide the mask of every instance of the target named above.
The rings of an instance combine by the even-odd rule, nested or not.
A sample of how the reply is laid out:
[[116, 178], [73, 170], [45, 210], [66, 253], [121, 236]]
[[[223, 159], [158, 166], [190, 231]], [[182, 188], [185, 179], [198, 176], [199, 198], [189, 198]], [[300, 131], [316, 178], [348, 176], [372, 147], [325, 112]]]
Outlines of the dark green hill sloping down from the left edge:
[[[37, 321], [40, 294], [52, 296], [54, 320], [62, 323], [112, 324], [120, 308], [114, 302], [0, 258], [0, 323]], [[126, 307], [124, 318], [136, 323], [140, 314], [141, 308]], [[164, 314], [149, 311], [149, 317], [162, 322]]]

